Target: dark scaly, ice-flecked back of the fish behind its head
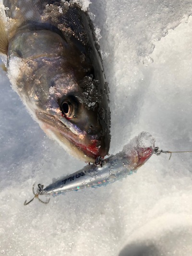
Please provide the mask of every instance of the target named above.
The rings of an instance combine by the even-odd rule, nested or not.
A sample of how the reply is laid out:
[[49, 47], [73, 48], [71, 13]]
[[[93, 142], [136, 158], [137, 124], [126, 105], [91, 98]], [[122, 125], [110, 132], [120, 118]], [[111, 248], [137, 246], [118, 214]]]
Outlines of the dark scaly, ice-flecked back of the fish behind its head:
[[[66, 40], [72, 49], [75, 46], [84, 54], [86, 67], [89, 66], [85, 75], [92, 74], [104, 85], [99, 45], [87, 12], [61, 0], [4, 0], [4, 5], [8, 7], [6, 15], [18, 21], [18, 30], [50, 30]], [[105, 85], [102, 87], [105, 89]]]

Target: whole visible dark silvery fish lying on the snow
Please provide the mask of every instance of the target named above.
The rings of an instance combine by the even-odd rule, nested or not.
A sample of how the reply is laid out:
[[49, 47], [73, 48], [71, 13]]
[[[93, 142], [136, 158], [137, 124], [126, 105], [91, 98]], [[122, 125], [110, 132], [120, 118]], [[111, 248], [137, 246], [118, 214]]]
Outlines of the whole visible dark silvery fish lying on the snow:
[[3, 0], [0, 17], [0, 53], [34, 120], [85, 162], [108, 155], [109, 89], [88, 11], [70, 0]]

